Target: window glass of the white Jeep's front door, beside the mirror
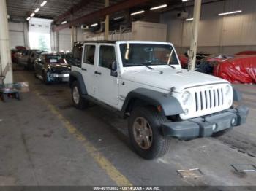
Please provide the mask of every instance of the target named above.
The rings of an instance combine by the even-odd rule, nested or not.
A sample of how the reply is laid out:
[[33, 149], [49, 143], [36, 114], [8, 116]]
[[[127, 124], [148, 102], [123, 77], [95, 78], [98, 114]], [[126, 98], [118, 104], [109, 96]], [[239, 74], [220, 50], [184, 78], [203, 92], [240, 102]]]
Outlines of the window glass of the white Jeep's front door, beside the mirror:
[[116, 61], [115, 47], [100, 46], [99, 48], [99, 66], [108, 68]]

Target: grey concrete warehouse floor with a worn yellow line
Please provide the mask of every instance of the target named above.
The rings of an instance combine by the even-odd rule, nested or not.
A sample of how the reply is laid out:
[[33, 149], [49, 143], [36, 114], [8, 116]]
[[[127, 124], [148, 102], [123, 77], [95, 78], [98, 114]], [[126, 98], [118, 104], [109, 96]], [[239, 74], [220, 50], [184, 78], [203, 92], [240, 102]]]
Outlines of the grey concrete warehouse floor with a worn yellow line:
[[[250, 108], [246, 125], [218, 139], [173, 140], [167, 155], [148, 161], [132, 152], [127, 121], [117, 114], [95, 105], [75, 109], [67, 84], [43, 85], [29, 71], [14, 76], [31, 92], [0, 102], [0, 185], [256, 186], [256, 173], [230, 166], [256, 165], [255, 85], [235, 85]], [[189, 168], [203, 176], [178, 176]]]

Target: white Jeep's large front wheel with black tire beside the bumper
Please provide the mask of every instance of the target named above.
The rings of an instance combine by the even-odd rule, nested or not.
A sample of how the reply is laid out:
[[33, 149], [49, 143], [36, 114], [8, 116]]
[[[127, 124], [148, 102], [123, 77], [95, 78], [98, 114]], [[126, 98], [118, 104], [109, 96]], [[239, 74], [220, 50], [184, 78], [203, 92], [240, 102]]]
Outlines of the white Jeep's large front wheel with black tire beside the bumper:
[[167, 122], [167, 118], [154, 107], [137, 107], [132, 111], [128, 121], [129, 140], [140, 157], [151, 160], [169, 150], [170, 139], [160, 130], [163, 122]]

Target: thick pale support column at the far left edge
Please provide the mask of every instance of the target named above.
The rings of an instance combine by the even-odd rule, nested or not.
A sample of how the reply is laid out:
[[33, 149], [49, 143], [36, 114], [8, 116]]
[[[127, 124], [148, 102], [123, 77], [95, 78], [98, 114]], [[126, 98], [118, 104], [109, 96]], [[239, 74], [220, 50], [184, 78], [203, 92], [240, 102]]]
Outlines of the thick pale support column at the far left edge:
[[7, 4], [0, 0], [0, 72], [5, 76], [4, 83], [12, 83], [12, 60], [9, 44], [9, 28], [7, 20]]

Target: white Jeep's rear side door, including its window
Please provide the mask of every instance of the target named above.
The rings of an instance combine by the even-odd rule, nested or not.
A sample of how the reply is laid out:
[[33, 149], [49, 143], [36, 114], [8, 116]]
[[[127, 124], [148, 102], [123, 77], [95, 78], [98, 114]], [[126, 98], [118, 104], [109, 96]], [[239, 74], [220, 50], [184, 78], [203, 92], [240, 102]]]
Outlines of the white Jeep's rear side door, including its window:
[[81, 73], [83, 75], [83, 82], [85, 82], [86, 90], [89, 95], [95, 94], [95, 55], [97, 50], [96, 44], [84, 44], [83, 47], [83, 61], [81, 67]]

